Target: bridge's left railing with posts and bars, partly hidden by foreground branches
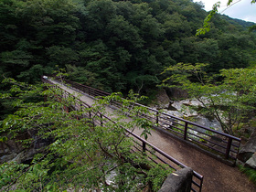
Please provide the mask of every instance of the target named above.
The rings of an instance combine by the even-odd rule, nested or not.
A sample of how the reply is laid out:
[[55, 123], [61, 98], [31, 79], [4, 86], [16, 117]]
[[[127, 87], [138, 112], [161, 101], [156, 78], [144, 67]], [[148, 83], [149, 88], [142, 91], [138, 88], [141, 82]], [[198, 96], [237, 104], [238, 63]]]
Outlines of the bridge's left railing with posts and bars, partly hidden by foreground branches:
[[[45, 83], [54, 84], [51, 80], [42, 79], [42, 81]], [[61, 95], [63, 98], [67, 98], [70, 96], [69, 92], [64, 91], [64, 90], [62, 90]], [[91, 105], [89, 105], [83, 101], [80, 101], [80, 99], [76, 98], [73, 95], [71, 95], [71, 96], [73, 97], [73, 104], [71, 106], [69, 106], [69, 110], [82, 111], [82, 112], [84, 112], [82, 114], [83, 117], [89, 117], [89, 118], [94, 117], [94, 121], [92, 122], [93, 124], [98, 124], [98, 125], [103, 126], [104, 123], [109, 123], [109, 122], [115, 123], [114, 121], [112, 121], [112, 119], [105, 116], [101, 112], [93, 112], [90, 110], [83, 110], [85, 108], [91, 109]], [[70, 109], [70, 108], [72, 108], [72, 109]], [[69, 110], [67, 110], [67, 107], [65, 107], [65, 110], [69, 111]], [[151, 159], [154, 164], [164, 163], [165, 165], [169, 165], [174, 170], [178, 170], [180, 168], [187, 167], [187, 165], [184, 165], [181, 162], [177, 161], [174, 157], [167, 155], [164, 151], [158, 149], [154, 144], [150, 144], [149, 142], [147, 142], [146, 140], [144, 140], [137, 134], [131, 132], [128, 129], [125, 129], [125, 131], [127, 133], [127, 136], [133, 138], [133, 142], [134, 142], [134, 150], [133, 151], [140, 151], [140, 152], [142, 152], [143, 155], [147, 155], [147, 157], [149, 159]], [[204, 176], [201, 176], [196, 171], [193, 171], [191, 190], [201, 192], [202, 187], [203, 187], [203, 179], [204, 179]]]

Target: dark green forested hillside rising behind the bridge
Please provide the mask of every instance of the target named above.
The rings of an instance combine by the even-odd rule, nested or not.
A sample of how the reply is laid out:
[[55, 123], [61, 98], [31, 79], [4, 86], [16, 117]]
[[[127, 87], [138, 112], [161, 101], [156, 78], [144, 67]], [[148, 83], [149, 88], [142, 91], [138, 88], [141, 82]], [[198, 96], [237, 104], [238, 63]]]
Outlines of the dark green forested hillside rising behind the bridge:
[[190, 0], [2, 0], [0, 73], [33, 83], [59, 65], [105, 91], [147, 94], [177, 62], [209, 72], [255, 63], [255, 35], [235, 21], [215, 16], [196, 37], [205, 16]]

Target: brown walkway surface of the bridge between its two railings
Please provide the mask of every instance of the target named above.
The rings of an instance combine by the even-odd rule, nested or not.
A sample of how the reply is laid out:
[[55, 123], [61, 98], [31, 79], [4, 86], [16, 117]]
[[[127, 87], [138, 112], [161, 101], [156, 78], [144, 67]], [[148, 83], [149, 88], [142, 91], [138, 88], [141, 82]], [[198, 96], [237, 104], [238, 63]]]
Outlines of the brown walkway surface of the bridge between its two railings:
[[[55, 84], [59, 84], [55, 80], [51, 80]], [[60, 85], [63, 90], [71, 94], [78, 94], [78, 91], [69, 89], [65, 85]], [[94, 99], [91, 96], [82, 94], [81, 101], [92, 105]], [[111, 108], [108, 109], [112, 111]], [[140, 135], [141, 130], [135, 129], [134, 133]], [[152, 130], [147, 141], [154, 144], [166, 154], [175, 157], [178, 161], [191, 167], [197, 173], [204, 176], [204, 184], [202, 191], [223, 191], [223, 192], [254, 192], [256, 187], [241, 174], [237, 167], [225, 165], [218, 160], [197, 151], [197, 149], [187, 146], [170, 135], [165, 135], [158, 131]]]

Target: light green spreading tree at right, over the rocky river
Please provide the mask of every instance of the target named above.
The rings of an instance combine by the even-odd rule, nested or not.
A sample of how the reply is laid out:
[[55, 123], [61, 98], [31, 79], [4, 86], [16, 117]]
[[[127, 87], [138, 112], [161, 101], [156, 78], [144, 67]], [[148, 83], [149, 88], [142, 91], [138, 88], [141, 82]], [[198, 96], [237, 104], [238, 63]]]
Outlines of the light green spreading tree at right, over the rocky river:
[[[172, 75], [162, 86], [178, 87], [197, 99], [198, 112], [214, 117], [222, 131], [239, 133], [243, 123], [253, 117], [256, 103], [256, 69], [222, 69], [218, 76], [209, 76], [207, 64], [178, 63], [165, 69]], [[221, 79], [221, 80], [218, 80]]]

